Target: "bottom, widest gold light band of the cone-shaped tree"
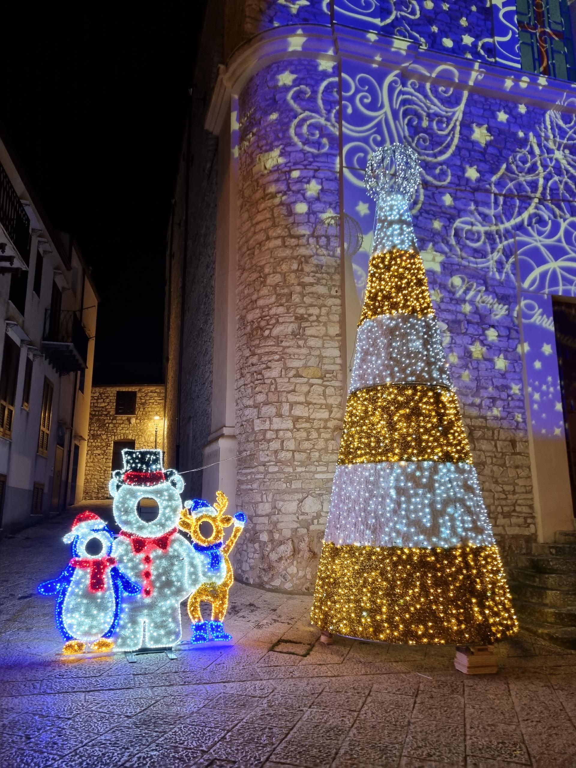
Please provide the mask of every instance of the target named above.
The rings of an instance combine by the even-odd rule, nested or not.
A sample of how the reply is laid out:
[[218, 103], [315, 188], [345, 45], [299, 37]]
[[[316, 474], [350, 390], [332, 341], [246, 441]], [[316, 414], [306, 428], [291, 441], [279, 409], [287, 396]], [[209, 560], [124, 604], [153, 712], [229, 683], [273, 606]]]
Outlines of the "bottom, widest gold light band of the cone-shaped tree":
[[312, 621], [335, 634], [407, 644], [488, 644], [518, 632], [498, 547], [324, 543]]

